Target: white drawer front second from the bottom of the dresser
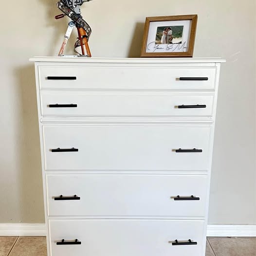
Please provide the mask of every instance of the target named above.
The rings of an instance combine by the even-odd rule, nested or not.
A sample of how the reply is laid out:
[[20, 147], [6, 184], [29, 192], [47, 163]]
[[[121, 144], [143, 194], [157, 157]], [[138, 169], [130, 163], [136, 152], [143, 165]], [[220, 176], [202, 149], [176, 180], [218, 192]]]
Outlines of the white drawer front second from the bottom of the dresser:
[[49, 216], [205, 216], [206, 176], [59, 174], [47, 188]]

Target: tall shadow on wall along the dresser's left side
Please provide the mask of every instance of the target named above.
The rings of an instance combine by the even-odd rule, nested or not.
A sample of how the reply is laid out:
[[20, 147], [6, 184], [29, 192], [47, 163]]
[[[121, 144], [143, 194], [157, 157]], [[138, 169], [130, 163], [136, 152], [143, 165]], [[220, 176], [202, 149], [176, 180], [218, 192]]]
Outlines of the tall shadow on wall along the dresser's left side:
[[34, 65], [14, 70], [20, 95], [20, 222], [44, 223], [43, 187]]

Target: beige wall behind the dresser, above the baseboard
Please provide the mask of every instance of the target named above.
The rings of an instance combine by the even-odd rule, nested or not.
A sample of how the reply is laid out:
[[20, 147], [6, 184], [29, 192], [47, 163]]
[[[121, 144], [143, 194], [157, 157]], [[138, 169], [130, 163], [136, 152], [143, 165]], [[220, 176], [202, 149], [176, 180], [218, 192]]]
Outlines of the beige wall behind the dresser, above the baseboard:
[[[28, 58], [56, 55], [67, 19], [54, 19], [55, 0], [6, 2], [0, 34], [0, 222], [39, 223], [44, 215], [37, 103]], [[147, 16], [199, 15], [194, 56], [227, 59], [220, 79], [209, 222], [256, 223], [255, 0], [93, 0], [82, 11], [93, 29], [95, 57], [139, 56]]]

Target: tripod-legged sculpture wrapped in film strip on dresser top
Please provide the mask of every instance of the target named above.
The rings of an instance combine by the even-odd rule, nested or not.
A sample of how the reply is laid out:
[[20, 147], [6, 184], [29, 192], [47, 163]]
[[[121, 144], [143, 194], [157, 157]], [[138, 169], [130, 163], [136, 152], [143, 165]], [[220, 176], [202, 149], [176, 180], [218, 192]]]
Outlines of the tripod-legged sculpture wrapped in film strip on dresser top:
[[[68, 16], [72, 20], [69, 22], [67, 32], [64, 36], [64, 41], [58, 54], [59, 56], [64, 56], [64, 48], [71, 36], [73, 27], [75, 26], [77, 28], [78, 40], [74, 44], [74, 52], [83, 57], [91, 57], [91, 51], [88, 44], [88, 40], [91, 36], [91, 27], [83, 19], [80, 9], [84, 2], [89, 1], [90, 0], [60, 0], [57, 2], [57, 7], [63, 12], [63, 14], [57, 15], [55, 18], [59, 19]], [[78, 47], [81, 47], [82, 54], [76, 51]]]

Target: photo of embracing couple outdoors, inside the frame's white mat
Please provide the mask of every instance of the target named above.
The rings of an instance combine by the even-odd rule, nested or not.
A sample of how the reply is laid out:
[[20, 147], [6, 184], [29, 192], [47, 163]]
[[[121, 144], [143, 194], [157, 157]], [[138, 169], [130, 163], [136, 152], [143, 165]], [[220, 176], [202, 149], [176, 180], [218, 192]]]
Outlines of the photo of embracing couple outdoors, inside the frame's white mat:
[[156, 44], [181, 44], [183, 39], [183, 26], [158, 27]]

